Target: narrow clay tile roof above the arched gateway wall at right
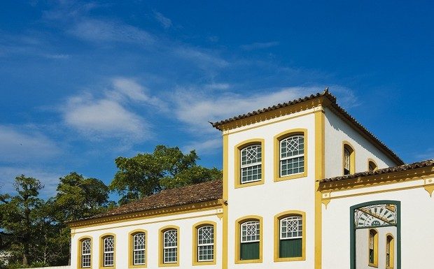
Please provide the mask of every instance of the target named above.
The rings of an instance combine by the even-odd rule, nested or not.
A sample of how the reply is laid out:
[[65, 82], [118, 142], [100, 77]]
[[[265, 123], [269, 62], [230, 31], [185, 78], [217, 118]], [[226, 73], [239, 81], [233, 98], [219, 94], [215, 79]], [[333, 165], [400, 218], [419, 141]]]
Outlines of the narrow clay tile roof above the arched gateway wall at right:
[[427, 166], [434, 166], [434, 159], [430, 159], [430, 160], [426, 160], [426, 161], [419, 161], [416, 163], [404, 164], [402, 166], [393, 166], [393, 167], [378, 169], [378, 170], [374, 170], [374, 171], [360, 172], [360, 173], [355, 173], [352, 175], [344, 175], [344, 176], [340, 176], [340, 177], [325, 178], [325, 179], [321, 180], [320, 183], [336, 182], [336, 181], [341, 181], [341, 180], [351, 180], [353, 178], [365, 177], [367, 175], [380, 175], [380, 174], [386, 174], [386, 173], [399, 172], [399, 171], [403, 171], [403, 170], [412, 170], [412, 169], [416, 169], [416, 168], [423, 168], [423, 167], [427, 167]]

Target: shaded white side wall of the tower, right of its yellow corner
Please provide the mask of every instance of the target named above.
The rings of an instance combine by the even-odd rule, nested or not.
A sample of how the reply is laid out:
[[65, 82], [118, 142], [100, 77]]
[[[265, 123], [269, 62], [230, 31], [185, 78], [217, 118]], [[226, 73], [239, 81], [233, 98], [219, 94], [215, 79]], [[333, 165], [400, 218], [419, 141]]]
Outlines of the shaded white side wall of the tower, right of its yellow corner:
[[[356, 173], [367, 171], [367, 159], [374, 159], [378, 168], [396, 166], [395, 163], [372, 145], [368, 140], [325, 108], [325, 177], [342, 175], [342, 142], [346, 140], [354, 147]], [[336, 165], [338, 164], [338, 165]]]

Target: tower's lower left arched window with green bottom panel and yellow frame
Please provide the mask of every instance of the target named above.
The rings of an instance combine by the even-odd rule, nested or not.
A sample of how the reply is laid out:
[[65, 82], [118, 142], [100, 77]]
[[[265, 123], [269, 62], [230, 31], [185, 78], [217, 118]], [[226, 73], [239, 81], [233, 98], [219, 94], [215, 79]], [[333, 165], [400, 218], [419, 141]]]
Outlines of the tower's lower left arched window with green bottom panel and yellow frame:
[[235, 263], [262, 262], [262, 217], [237, 219]]

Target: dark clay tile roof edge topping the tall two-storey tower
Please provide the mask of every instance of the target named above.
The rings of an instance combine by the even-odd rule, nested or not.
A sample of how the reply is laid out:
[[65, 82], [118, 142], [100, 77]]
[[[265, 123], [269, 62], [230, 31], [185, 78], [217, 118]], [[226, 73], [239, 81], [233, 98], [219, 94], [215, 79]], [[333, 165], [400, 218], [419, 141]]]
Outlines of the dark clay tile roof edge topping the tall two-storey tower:
[[325, 97], [330, 101], [330, 105], [328, 106], [333, 112], [335, 112], [336, 115], [338, 115], [339, 117], [341, 117], [342, 119], [344, 119], [346, 122], [349, 122], [349, 124], [353, 125], [353, 128], [355, 128], [356, 130], [360, 131], [360, 133], [362, 133], [364, 136], [367, 136], [367, 138], [370, 138], [374, 141], [374, 143], [377, 144], [377, 147], [379, 147], [379, 149], [381, 151], [383, 151], [384, 153], [386, 153], [389, 157], [391, 157], [391, 159], [393, 159], [393, 161], [395, 161], [396, 164], [401, 165], [404, 164], [404, 161], [402, 161], [402, 159], [400, 159], [400, 157], [398, 157], [397, 154], [395, 154], [395, 152], [393, 152], [389, 147], [387, 147], [384, 143], [381, 142], [381, 140], [379, 140], [377, 138], [377, 136], [374, 136], [373, 133], [371, 133], [370, 131], [368, 131], [365, 126], [363, 126], [362, 124], [360, 124], [360, 122], [358, 122], [353, 116], [349, 115], [348, 112], [346, 112], [346, 110], [344, 110], [344, 108], [340, 107], [337, 104], [337, 99], [333, 94], [330, 94], [330, 92], [328, 91], [328, 88], [325, 88], [325, 90], [321, 93], [316, 93], [316, 94], [311, 94], [309, 96], [304, 96], [303, 98], [299, 98], [299, 99], [295, 99], [293, 101], [288, 101], [286, 103], [279, 103], [275, 106], [269, 106], [268, 108], [262, 108], [260, 110], [255, 110], [253, 112], [248, 112], [246, 114], [242, 114], [242, 115], [238, 115], [236, 117], [231, 117], [229, 119], [223, 119], [219, 122], [209, 122], [211, 123], [211, 125], [220, 130], [223, 131], [222, 129], [222, 125], [223, 124], [227, 124], [229, 122], [234, 122], [237, 119], [244, 119], [246, 117], [251, 117], [253, 115], [258, 115], [264, 112], [268, 112], [268, 111], [272, 111], [272, 110], [277, 110], [279, 108], [284, 108], [286, 106], [292, 106], [295, 105], [296, 103], [302, 103], [304, 101], [309, 101], [312, 99], [316, 99], [319, 97]]

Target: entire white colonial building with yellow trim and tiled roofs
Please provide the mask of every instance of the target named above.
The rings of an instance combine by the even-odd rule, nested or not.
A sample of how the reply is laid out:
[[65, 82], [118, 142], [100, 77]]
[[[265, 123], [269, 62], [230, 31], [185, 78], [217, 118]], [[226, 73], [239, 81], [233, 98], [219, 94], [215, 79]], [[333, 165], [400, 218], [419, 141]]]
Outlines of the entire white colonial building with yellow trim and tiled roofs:
[[71, 268], [433, 268], [434, 160], [405, 165], [328, 90], [212, 125], [223, 180], [74, 221]]

